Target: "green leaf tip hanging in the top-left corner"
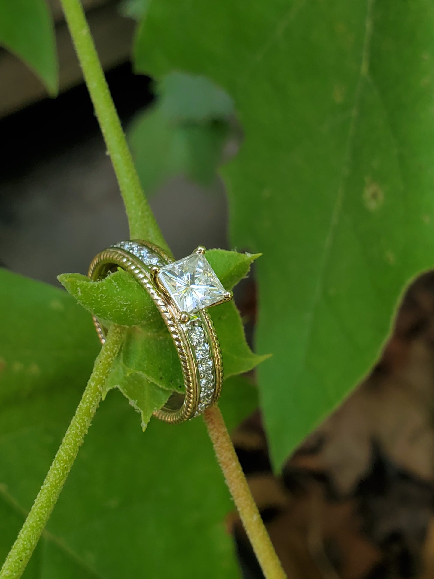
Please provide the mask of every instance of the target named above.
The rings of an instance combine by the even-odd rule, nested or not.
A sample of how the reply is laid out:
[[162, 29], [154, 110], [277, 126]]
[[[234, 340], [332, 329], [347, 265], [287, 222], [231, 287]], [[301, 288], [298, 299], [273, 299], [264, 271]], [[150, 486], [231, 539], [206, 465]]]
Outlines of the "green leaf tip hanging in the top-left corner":
[[21, 58], [56, 96], [56, 39], [45, 0], [0, 0], [0, 45]]

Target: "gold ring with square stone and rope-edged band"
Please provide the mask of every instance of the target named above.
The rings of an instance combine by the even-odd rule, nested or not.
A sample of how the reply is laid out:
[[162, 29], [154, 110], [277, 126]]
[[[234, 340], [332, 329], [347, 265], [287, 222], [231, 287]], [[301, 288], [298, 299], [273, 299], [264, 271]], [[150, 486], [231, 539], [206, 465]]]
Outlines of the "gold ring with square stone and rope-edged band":
[[[205, 247], [173, 261], [147, 241], [120, 241], [101, 251], [89, 266], [96, 281], [122, 267], [148, 292], [174, 342], [181, 362], [184, 394], [173, 392], [154, 416], [178, 424], [198, 416], [219, 398], [223, 382], [222, 353], [207, 308], [233, 297], [205, 258]], [[104, 343], [106, 328], [94, 317]]]

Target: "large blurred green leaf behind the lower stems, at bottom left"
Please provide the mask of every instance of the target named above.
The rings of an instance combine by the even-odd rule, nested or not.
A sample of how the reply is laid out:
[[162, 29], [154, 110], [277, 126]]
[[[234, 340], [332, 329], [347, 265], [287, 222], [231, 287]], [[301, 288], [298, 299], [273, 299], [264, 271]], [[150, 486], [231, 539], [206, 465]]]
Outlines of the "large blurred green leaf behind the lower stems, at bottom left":
[[[98, 351], [89, 314], [63, 291], [0, 271], [0, 559], [60, 444]], [[255, 391], [229, 379], [229, 427]], [[232, 508], [201, 419], [151, 420], [107, 395], [27, 579], [237, 577], [223, 517]], [[198, 540], [200, 537], [200, 540]]]

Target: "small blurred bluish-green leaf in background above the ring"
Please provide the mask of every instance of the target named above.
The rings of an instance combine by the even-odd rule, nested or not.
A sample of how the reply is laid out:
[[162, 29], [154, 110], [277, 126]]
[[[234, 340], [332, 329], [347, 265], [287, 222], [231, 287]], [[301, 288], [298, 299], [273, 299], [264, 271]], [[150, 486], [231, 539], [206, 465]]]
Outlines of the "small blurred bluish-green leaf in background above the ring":
[[157, 104], [139, 113], [128, 131], [145, 191], [180, 174], [210, 185], [231, 133], [231, 98], [208, 79], [179, 72], [163, 78], [156, 91]]

